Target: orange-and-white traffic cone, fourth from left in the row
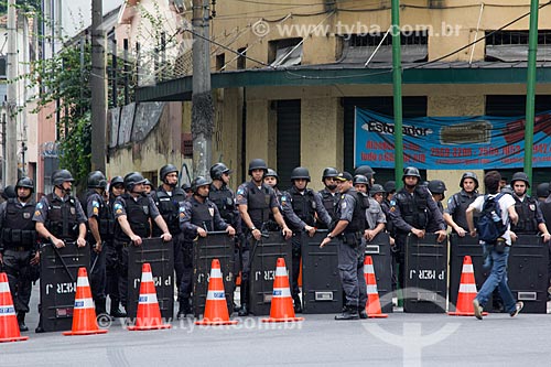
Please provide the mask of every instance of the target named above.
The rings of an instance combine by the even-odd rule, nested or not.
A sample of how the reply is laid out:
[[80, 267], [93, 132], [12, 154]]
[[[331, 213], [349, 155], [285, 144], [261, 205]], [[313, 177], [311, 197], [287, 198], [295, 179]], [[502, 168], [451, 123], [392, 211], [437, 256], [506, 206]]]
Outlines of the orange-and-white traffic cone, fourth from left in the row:
[[202, 321], [195, 322], [195, 325], [208, 326], [234, 324], [237, 324], [237, 321], [229, 320], [226, 292], [224, 292], [224, 281], [222, 279], [220, 261], [218, 261], [218, 259], [213, 259], [210, 265], [210, 278], [208, 280], [205, 314]]

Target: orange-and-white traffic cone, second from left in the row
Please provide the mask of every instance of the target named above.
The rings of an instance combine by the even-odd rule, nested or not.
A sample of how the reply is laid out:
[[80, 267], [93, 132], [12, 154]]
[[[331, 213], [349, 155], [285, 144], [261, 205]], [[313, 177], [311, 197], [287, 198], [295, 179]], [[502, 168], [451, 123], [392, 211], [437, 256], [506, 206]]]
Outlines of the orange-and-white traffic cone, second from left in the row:
[[98, 327], [96, 310], [91, 300], [90, 284], [86, 268], [78, 268], [76, 281], [75, 307], [73, 309], [73, 328], [63, 335], [105, 334], [107, 330]]

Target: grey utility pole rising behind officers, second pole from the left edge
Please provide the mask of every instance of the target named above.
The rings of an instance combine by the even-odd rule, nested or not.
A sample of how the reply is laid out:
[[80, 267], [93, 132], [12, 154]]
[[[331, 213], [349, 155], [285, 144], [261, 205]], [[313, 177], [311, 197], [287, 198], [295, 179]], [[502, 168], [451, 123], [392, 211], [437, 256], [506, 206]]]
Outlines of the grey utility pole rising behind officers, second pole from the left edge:
[[91, 170], [105, 172], [107, 77], [102, 20], [101, 0], [91, 0]]

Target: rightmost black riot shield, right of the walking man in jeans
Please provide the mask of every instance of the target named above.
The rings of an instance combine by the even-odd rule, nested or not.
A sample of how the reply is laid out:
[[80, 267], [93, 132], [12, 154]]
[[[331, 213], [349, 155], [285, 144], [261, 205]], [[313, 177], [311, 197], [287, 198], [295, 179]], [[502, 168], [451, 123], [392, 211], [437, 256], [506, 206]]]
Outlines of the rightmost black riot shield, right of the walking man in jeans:
[[510, 248], [509, 288], [525, 303], [522, 313], [547, 313], [548, 260], [548, 244], [540, 236], [519, 235]]

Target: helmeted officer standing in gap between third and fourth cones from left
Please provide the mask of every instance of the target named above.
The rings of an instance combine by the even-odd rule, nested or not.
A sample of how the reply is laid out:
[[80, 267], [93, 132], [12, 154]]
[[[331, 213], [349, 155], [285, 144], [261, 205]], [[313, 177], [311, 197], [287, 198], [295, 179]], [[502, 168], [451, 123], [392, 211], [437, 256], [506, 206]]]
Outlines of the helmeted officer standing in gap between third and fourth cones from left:
[[[179, 171], [175, 165], [163, 165], [159, 170], [159, 177], [162, 184], [151, 194], [151, 197], [172, 235], [172, 242], [174, 245], [174, 272], [176, 274], [176, 284], [180, 287], [184, 274], [184, 255], [182, 252], [183, 238], [179, 223], [179, 211], [186, 199], [186, 195], [182, 188], [177, 187], [177, 176]], [[153, 226], [153, 237], [159, 237], [161, 234], [161, 229], [158, 226]], [[180, 315], [180, 313], [181, 311], [179, 310], [177, 314]]]

